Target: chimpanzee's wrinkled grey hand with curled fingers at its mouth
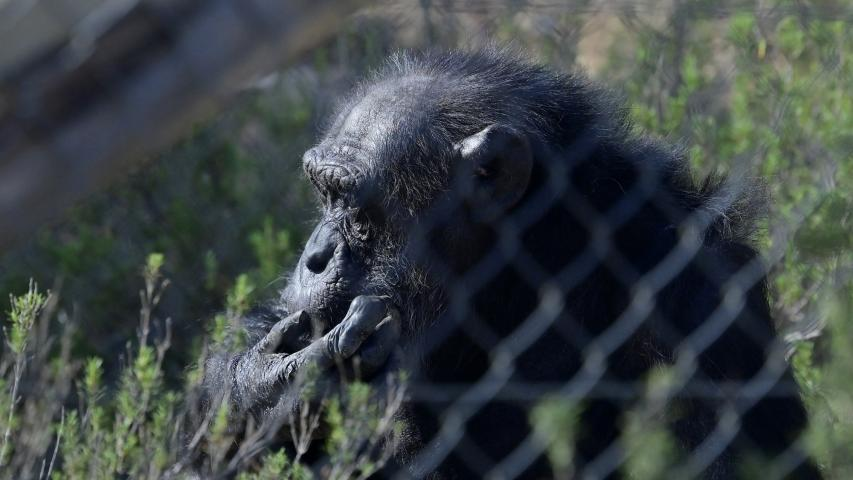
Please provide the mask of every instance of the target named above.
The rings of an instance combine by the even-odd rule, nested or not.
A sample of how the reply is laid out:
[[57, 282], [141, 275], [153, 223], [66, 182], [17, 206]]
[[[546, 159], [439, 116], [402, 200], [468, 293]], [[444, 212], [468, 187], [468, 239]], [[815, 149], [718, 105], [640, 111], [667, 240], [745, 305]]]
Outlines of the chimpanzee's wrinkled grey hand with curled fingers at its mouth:
[[281, 424], [303, 400], [306, 376], [315, 384], [328, 383], [340, 375], [335, 367], [347, 364], [359, 378], [370, 378], [398, 343], [400, 316], [384, 297], [359, 296], [331, 331], [314, 339], [312, 330], [308, 314], [294, 313], [232, 360], [232, 402], [238, 412]]

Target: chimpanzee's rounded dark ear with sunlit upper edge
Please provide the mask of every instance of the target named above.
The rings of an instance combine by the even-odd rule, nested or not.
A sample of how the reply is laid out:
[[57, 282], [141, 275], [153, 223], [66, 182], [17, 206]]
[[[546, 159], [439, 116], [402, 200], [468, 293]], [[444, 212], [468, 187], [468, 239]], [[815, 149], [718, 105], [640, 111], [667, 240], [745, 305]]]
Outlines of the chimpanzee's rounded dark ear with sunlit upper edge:
[[523, 133], [493, 124], [454, 147], [461, 157], [463, 187], [478, 212], [496, 218], [521, 200], [533, 170], [533, 152]]

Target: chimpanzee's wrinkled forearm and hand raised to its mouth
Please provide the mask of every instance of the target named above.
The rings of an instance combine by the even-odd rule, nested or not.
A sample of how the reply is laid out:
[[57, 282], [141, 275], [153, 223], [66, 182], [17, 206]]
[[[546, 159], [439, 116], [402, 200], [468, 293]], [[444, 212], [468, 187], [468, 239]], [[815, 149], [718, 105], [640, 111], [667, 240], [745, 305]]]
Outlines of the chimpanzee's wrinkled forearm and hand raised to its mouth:
[[203, 463], [204, 440], [221, 405], [228, 409], [228, 433], [238, 443], [249, 419], [274, 435], [298, 407], [300, 375], [334, 375], [338, 362], [356, 354], [362, 374], [369, 375], [384, 364], [400, 332], [399, 314], [386, 298], [375, 296], [356, 297], [343, 320], [316, 339], [305, 312], [278, 318], [274, 311], [253, 310], [244, 321], [248, 348], [220, 349], [207, 358], [184, 435], [196, 465]]

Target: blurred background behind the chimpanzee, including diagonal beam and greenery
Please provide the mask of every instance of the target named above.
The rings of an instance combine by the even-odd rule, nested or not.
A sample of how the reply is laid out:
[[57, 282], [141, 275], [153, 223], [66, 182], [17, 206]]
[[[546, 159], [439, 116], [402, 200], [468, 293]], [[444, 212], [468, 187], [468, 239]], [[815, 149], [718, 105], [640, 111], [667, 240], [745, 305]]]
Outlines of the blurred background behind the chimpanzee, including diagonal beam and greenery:
[[[150, 322], [163, 339], [171, 319], [158, 388], [180, 391], [218, 312], [283, 286], [315, 207], [301, 155], [335, 98], [396, 50], [489, 42], [585, 71], [639, 130], [682, 145], [697, 174], [764, 179], [759, 244], [815, 419], [810, 445], [833, 478], [851, 478], [853, 6], [842, 0], [0, 0], [0, 317], [14, 321], [5, 299], [32, 292], [31, 279], [50, 290], [27, 358], [29, 372], [52, 372], [30, 393], [53, 392], [15, 407], [27, 389], [5, 392], [27, 382], [7, 349], [0, 430], [67, 425], [62, 405], [95, 370], [98, 398], [120, 408], [110, 392], [138, 359], [152, 279], [169, 279]], [[59, 443], [45, 435], [0, 461], [39, 476]]]

